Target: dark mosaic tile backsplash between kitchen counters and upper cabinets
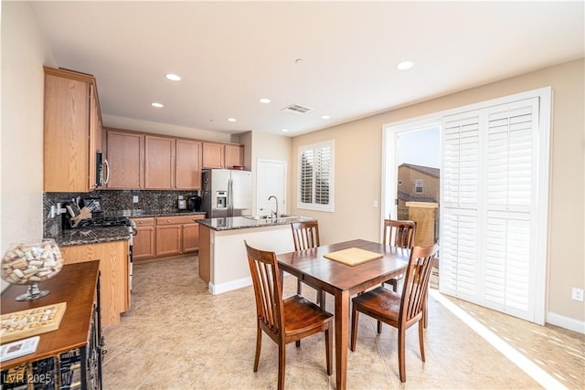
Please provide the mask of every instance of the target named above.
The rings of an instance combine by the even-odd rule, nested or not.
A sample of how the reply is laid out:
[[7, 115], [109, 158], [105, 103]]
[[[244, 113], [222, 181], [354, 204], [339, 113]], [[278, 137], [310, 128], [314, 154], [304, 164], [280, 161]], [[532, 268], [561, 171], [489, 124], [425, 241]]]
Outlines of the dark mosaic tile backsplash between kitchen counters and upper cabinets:
[[[101, 197], [101, 206], [106, 216], [128, 215], [142, 210], [144, 213], [175, 213], [179, 195], [197, 195], [197, 191], [153, 191], [153, 190], [96, 190], [90, 193], [43, 193], [43, 235], [55, 237], [62, 229], [61, 216], [50, 217], [51, 206], [70, 202], [78, 197], [83, 206], [86, 197]], [[137, 196], [138, 202], [133, 198]]]

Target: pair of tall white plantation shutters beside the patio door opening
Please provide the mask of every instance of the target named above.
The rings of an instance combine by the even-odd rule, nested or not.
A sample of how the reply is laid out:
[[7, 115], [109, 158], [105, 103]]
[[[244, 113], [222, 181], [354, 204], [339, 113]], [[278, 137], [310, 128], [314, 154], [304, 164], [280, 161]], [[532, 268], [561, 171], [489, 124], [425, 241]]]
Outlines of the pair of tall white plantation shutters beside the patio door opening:
[[538, 98], [442, 119], [442, 292], [533, 320]]

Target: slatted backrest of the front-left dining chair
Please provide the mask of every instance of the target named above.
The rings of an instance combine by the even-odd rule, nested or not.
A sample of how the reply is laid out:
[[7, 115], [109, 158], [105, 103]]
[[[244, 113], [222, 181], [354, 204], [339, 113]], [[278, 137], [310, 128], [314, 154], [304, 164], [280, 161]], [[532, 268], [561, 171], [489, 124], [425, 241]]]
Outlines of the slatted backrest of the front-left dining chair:
[[283, 335], [283, 304], [281, 275], [274, 252], [251, 248], [244, 241], [248, 253], [248, 264], [254, 286], [256, 313], [261, 328], [272, 339]]

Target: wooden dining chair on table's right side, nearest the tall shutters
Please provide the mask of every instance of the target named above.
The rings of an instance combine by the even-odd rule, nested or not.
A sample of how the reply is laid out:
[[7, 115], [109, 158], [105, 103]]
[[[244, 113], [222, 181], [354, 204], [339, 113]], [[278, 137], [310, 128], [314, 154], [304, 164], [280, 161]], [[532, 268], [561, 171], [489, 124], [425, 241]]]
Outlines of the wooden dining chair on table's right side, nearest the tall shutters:
[[[360, 312], [397, 328], [399, 331], [400, 382], [406, 382], [406, 331], [417, 322], [419, 323], [420, 359], [424, 362], [424, 311], [432, 263], [437, 257], [438, 248], [437, 245], [412, 248], [404, 277], [402, 295], [385, 287], [378, 287], [358, 295], [352, 300], [351, 351], [356, 351], [357, 320]], [[382, 329], [378, 327], [378, 333], [380, 332]]]

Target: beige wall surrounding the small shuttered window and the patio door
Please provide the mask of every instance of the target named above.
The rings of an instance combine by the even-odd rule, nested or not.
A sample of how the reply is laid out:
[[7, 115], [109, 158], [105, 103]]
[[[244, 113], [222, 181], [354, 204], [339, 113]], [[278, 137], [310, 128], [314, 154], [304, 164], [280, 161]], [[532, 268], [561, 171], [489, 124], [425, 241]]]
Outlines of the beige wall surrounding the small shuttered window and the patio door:
[[[551, 86], [554, 98], [547, 321], [582, 329], [585, 305], [570, 300], [570, 288], [585, 288], [584, 74], [585, 61], [580, 59], [298, 136], [293, 139], [294, 155], [301, 145], [335, 140], [335, 213], [308, 212], [296, 207], [291, 212], [317, 218], [325, 244], [356, 237], [377, 240], [380, 213], [372, 204], [381, 191], [384, 124]], [[296, 206], [295, 165], [291, 171]]]

